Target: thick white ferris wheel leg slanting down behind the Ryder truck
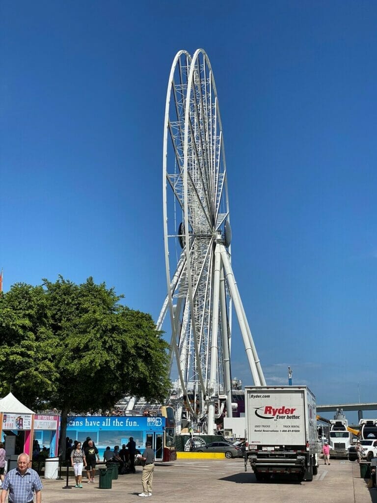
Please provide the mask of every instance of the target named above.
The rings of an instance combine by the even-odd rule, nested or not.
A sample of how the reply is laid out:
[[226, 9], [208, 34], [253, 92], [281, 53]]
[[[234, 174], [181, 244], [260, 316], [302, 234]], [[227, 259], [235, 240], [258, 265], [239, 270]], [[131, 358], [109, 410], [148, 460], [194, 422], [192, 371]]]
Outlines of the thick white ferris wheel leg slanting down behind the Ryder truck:
[[234, 308], [236, 310], [238, 324], [240, 326], [243, 344], [245, 346], [247, 361], [249, 362], [249, 367], [250, 367], [251, 374], [253, 376], [254, 385], [260, 386], [261, 382], [260, 382], [258, 370], [256, 368], [256, 364], [254, 361], [254, 354], [253, 354], [253, 351], [251, 348], [249, 336], [248, 336], [246, 325], [245, 325], [245, 319], [244, 319], [243, 312], [242, 312], [242, 302], [241, 302], [241, 298], [240, 298], [240, 295], [238, 292], [236, 281], [234, 279], [232, 266], [230, 265], [229, 257], [228, 257], [228, 254], [227, 254], [227, 251], [226, 251], [224, 245], [220, 245], [220, 246], [221, 246], [221, 259], [224, 264], [227, 284], [229, 287], [231, 297], [233, 299]]

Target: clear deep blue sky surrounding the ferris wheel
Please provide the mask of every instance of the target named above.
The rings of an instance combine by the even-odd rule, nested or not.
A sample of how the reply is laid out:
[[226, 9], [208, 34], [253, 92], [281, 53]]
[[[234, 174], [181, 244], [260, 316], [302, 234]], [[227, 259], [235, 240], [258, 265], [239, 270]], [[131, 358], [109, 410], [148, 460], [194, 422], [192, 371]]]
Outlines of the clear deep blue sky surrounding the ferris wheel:
[[[3, 0], [4, 289], [93, 276], [157, 319], [167, 79], [179, 49], [202, 47], [267, 384], [290, 365], [318, 403], [375, 400], [376, 25], [365, 1]], [[251, 384], [237, 327], [232, 344], [233, 376]]]

